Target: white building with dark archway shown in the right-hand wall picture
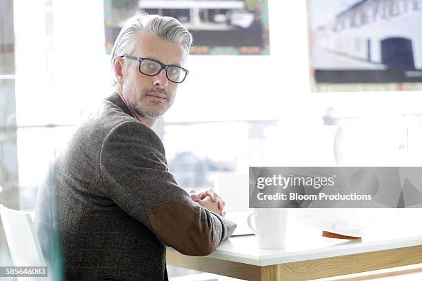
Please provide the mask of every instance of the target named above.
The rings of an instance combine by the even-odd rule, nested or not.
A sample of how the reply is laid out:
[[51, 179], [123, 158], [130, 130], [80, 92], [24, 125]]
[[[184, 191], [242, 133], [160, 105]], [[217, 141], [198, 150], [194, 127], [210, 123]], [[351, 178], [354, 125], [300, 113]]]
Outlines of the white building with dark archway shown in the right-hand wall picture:
[[363, 0], [313, 32], [314, 67], [422, 69], [422, 0]]

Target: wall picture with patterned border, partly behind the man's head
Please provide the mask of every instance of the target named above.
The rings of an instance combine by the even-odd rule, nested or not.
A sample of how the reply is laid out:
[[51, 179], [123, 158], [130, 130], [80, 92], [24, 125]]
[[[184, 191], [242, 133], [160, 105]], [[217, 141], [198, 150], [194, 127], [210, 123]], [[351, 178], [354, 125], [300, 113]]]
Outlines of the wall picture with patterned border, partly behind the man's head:
[[179, 19], [194, 38], [190, 54], [270, 54], [268, 0], [104, 0], [107, 54], [139, 12]]

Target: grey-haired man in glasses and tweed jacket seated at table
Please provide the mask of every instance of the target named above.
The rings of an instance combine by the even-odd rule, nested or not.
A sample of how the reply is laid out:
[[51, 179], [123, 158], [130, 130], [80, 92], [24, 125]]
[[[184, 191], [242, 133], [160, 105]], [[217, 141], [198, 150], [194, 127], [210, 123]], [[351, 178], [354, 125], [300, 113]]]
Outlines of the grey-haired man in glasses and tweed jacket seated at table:
[[204, 256], [234, 231], [219, 216], [217, 194], [177, 185], [151, 129], [188, 74], [191, 42], [176, 19], [147, 14], [117, 37], [116, 93], [76, 129], [37, 198], [35, 225], [47, 249], [55, 195], [66, 280], [168, 280], [166, 245]]

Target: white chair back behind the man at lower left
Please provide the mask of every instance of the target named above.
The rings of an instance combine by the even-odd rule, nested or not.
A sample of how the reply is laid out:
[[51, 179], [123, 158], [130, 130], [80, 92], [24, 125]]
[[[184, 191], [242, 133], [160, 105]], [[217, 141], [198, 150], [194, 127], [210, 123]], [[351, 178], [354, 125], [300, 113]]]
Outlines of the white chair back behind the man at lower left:
[[[0, 204], [0, 216], [14, 267], [46, 267], [41, 245], [30, 214]], [[17, 280], [30, 280], [28, 277]], [[47, 280], [36, 277], [34, 280]]]

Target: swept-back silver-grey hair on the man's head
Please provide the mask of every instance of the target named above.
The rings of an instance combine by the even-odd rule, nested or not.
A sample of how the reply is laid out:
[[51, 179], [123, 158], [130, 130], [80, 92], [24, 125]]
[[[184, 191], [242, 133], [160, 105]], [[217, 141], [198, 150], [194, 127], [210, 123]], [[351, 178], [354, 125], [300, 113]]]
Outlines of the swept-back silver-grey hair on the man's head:
[[130, 18], [121, 28], [112, 48], [112, 63], [115, 57], [132, 52], [135, 43], [134, 35], [139, 30], [148, 32], [161, 39], [181, 44], [185, 54], [184, 59], [188, 58], [190, 45], [192, 45], [192, 35], [188, 29], [173, 17], [161, 17], [158, 14], [146, 14], [143, 12]]

